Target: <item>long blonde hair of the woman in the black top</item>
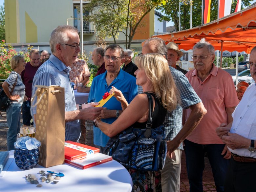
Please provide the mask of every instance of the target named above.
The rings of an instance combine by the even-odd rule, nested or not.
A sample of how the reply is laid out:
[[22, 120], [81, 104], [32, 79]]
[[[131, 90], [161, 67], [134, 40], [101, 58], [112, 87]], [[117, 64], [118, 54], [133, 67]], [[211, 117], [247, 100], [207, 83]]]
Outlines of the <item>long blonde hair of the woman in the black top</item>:
[[165, 109], [174, 110], [180, 103], [180, 94], [172, 78], [167, 60], [158, 53], [148, 53], [135, 58], [138, 68], [144, 69], [152, 81], [153, 89]]

